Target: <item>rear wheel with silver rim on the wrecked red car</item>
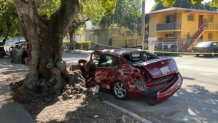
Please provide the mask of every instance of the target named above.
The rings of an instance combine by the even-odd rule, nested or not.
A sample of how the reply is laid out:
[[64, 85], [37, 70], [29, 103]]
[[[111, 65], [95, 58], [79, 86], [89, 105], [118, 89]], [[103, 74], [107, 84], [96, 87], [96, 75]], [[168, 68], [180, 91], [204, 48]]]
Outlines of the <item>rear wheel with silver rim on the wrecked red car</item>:
[[127, 99], [128, 90], [122, 82], [115, 82], [112, 87], [112, 92], [118, 99]]

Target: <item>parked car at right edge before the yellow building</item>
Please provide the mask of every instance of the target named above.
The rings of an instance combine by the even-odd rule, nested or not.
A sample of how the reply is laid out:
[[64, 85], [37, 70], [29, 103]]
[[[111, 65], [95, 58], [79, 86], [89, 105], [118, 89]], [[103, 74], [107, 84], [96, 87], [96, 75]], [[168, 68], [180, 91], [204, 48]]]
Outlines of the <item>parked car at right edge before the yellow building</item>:
[[200, 54], [215, 56], [215, 53], [218, 53], [218, 41], [200, 42], [193, 48], [193, 51], [197, 53], [196, 56]]

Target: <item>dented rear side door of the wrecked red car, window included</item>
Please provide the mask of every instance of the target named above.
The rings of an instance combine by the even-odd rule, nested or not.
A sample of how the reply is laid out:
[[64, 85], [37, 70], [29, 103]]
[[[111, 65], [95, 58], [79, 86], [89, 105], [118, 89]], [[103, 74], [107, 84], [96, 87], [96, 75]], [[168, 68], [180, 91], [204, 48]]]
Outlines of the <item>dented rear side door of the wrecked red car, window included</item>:
[[95, 81], [102, 88], [110, 89], [111, 82], [118, 71], [118, 63], [116, 56], [110, 54], [103, 54], [100, 57], [99, 63], [96, 67]]

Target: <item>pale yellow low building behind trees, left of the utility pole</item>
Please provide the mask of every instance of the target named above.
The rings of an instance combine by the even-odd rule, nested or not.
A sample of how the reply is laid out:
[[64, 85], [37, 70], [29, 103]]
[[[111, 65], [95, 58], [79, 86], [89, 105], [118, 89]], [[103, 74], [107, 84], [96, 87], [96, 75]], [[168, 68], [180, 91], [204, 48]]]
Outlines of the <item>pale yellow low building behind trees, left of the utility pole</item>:
[[142, 45], [141, 36], [116, 25], [109, 29], [86, 29], [85, 39], [91, 40], [103, 48], [139, 47]]

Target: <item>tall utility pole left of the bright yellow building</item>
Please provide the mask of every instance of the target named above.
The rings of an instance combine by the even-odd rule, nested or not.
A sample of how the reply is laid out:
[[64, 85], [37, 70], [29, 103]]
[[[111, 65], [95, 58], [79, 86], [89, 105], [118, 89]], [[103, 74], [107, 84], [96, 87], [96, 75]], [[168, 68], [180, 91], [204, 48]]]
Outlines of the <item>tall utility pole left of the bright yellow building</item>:
[[142, 17], [141, 17], [141, 36], [142, 36], [142, 49], [145, 49], [145, 0], [142, 0]]

